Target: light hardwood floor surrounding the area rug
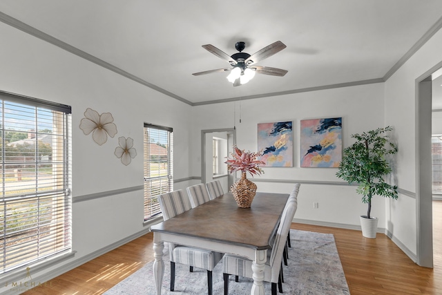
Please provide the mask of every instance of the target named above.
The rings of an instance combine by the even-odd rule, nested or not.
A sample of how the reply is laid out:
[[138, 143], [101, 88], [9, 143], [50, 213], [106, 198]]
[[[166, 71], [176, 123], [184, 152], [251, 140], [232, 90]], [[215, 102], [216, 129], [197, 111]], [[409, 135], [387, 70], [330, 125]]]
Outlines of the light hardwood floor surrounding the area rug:
[[[350, 293], [442, 294], [442, 201], [434, 201], [434, 268], [419, 267], [384, 234], [293, 223], [292, 229], [334, 234]], [[122, 247], [35, 287], [26, 295], [98, 295], [153, 260], [153, 235]]]

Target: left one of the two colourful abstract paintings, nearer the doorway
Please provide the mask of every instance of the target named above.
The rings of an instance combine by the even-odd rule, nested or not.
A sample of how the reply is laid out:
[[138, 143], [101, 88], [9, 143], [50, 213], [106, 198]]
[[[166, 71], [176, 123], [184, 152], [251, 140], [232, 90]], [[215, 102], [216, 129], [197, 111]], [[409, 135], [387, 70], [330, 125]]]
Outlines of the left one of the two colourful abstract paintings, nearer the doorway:
[[266, 167], [293, 166], [293, 123], [258, 124], [258, 151]]

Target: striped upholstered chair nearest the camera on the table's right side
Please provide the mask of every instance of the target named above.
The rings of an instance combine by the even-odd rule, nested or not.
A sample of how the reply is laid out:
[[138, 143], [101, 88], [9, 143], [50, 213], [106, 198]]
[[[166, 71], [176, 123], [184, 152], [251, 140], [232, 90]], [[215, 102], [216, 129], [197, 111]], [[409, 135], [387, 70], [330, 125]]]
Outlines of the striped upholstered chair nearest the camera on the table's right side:
[[[298, 192], [299, 184], [295, 185], [293, 191], [291, 191], [284, 211], [278, 231], [276, 232], [276, 238], [273, 241], [271, 249], [267, 250], [267, 262], [264, 269], [264, 280], [271, 283], [271, 294], [276, 295], [276, 285], [278, 284], [279, 292], [282, 293], [282, 278], [281, 278], [281, 263], [282, 252], [285, 249], [287, 235], [290, 231], [290, 225], [293, 221], [296, 209], [298, 207]], [[270, 253], [269, 253], [270, 252]], [[253, 271], [251, 269], [253, 261], [242, 256], [236, 256], [231, 254], [225, 254], [222, 258], [222, 272], [224, 278], [224, 295], [229, 294], [229, 276], [243, 276], [246, 278], [252, 278]]]

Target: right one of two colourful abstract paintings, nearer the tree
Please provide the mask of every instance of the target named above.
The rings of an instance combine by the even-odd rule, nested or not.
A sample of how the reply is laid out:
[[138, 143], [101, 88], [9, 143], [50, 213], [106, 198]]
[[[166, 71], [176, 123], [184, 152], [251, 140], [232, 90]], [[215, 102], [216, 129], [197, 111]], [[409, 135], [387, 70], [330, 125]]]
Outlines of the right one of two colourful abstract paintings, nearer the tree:
[[343, 158], [342, 117], [301, 120], [301, 167], [338, 167]]

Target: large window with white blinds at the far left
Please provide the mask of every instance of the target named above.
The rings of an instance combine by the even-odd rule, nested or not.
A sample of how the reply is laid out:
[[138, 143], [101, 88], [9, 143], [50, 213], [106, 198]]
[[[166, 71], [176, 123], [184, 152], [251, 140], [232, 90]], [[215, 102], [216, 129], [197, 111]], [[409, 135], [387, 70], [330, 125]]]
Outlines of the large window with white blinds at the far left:
[[71, 250], [70, 106], [0, 92], [0, 274]]

